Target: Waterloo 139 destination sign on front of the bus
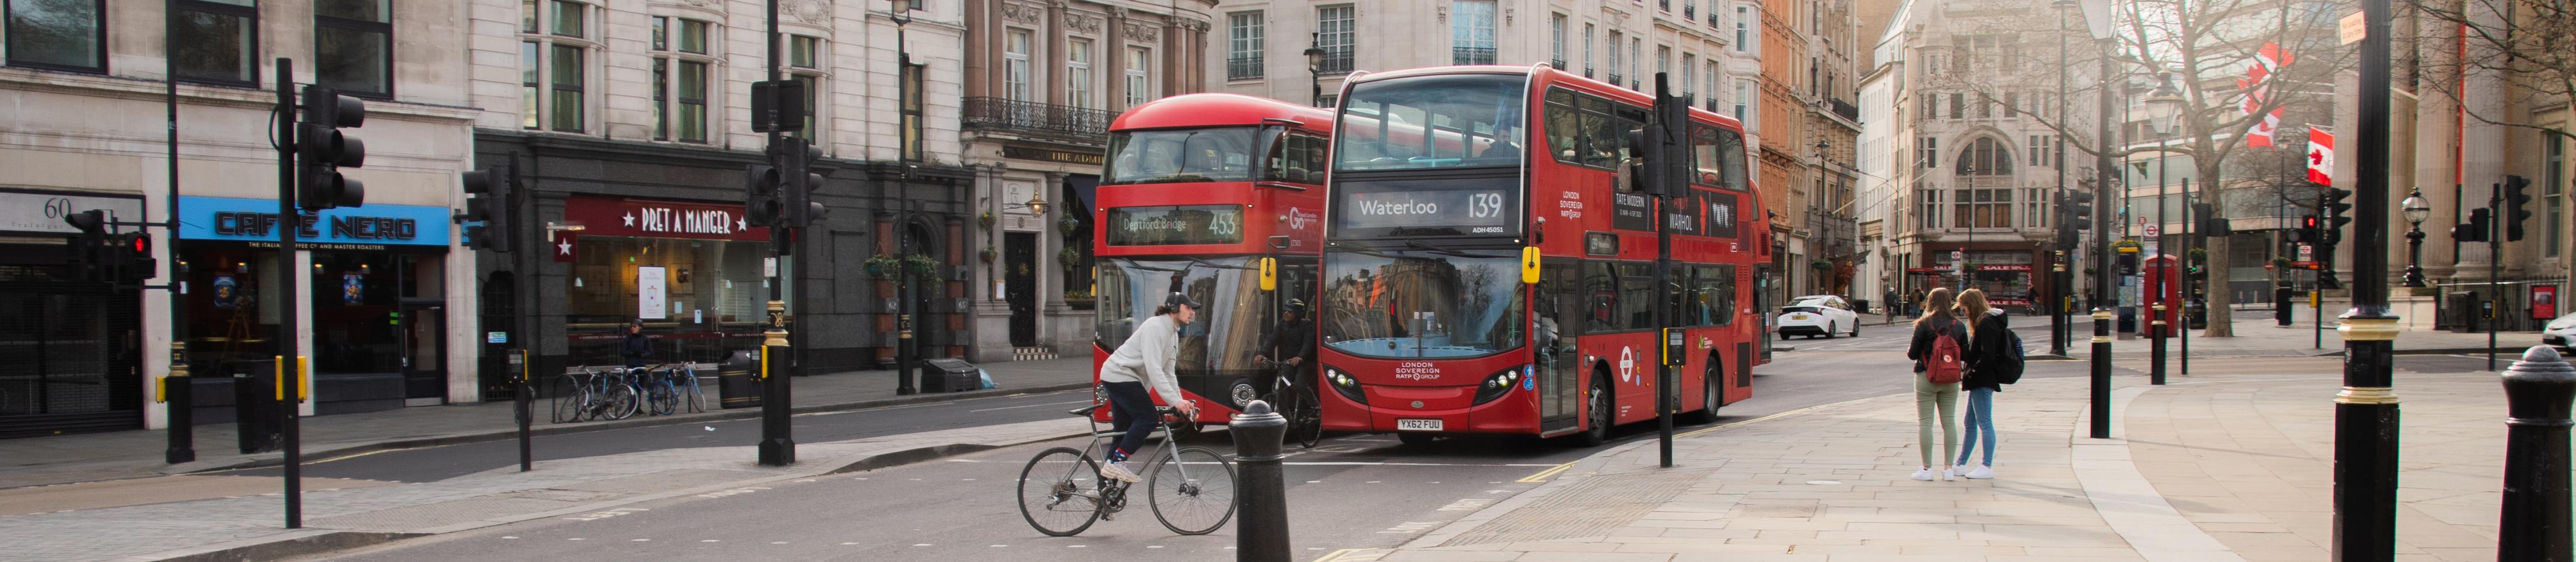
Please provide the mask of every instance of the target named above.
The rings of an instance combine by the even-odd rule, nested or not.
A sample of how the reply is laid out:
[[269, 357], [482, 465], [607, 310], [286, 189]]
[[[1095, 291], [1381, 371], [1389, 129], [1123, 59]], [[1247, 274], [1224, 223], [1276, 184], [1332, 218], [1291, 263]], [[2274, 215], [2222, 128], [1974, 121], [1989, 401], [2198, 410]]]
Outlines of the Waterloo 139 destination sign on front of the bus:
[[1515, 235], [1520, 204], [1507, 188], [1445, 188], [1414, 191], [1406, 183], [1381, 186], [1345, 183], [1342, 201], [1334, 201], [1337, 229], [1386, 235]]

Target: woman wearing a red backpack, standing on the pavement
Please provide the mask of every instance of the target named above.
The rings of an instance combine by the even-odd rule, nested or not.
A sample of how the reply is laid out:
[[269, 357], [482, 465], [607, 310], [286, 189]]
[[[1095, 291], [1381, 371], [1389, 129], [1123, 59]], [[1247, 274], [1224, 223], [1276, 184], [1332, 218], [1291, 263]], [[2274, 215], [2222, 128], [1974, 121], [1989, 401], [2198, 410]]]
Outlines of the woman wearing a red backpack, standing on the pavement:
[[[1958, 384], [1968, 371], [1968, 322], [1958, 320], [1950, 289], [1924, 294], [1924, 315], [1914, 317], [1914, 343], [1906, 345], [1906, 358], [1914, 358], [1914, 423], [1924, 459], [1914, 469], [1914, 480], [1950, 480], [1955, 474], [1950, 456], [1958, 454]], [[1940, 472], [1932, 472], [1935, 410], [1940, 410]]]

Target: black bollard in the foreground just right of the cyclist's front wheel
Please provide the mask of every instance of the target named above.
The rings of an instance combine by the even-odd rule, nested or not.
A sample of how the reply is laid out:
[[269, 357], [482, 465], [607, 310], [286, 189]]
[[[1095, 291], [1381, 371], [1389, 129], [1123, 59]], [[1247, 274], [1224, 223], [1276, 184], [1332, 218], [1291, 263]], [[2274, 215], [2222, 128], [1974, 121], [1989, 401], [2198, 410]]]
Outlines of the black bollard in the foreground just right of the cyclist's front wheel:
[[1242, 492], [1234, 495], [1234, 559], [1288, 562], [1288, 474], [1280, 469], [1288, 418], [1270, 412], [1270, 402], [1252, 400], [1226, 433], [1234, 433], [1234, 474], [1242, 474]]

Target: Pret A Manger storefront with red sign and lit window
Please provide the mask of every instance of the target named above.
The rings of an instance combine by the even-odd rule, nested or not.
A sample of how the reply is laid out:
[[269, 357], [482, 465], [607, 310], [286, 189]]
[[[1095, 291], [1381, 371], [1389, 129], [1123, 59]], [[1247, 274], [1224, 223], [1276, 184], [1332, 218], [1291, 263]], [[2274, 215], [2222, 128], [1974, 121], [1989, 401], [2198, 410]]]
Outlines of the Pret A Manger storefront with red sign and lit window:
[[546, 250], [567, 263], [574, 366], [621, 366], [626, 322], [644, 322], [654, 361], [716, 363], [760, 348], [770, 229], [750, 227], [742, 204], [569, 196]]

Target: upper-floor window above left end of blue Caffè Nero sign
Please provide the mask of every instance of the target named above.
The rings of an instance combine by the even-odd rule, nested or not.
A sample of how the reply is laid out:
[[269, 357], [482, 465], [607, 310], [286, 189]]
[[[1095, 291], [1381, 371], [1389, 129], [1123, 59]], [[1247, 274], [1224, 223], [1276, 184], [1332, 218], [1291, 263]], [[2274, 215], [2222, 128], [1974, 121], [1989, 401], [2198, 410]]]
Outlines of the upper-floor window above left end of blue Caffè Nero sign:
[[[10, 15], [15, 18], [15, 10]], [[260, 5], [255, 0], [170, 3], [170, 52], [178, 80], [260, 85]]]

